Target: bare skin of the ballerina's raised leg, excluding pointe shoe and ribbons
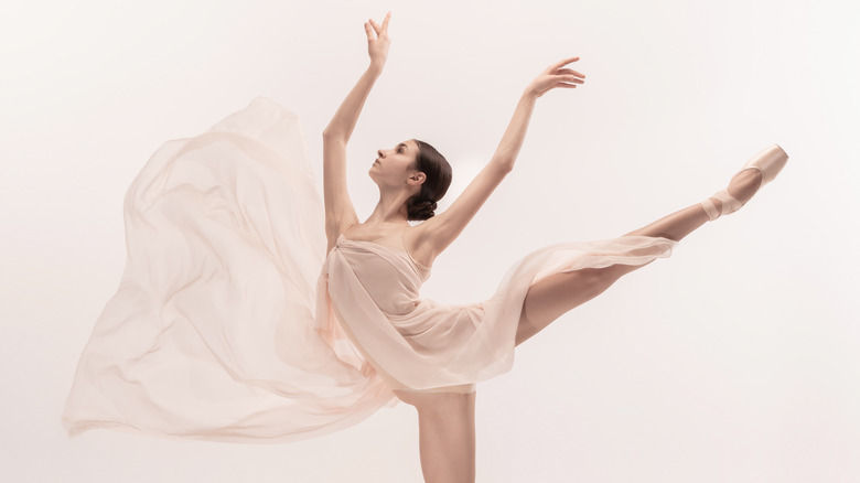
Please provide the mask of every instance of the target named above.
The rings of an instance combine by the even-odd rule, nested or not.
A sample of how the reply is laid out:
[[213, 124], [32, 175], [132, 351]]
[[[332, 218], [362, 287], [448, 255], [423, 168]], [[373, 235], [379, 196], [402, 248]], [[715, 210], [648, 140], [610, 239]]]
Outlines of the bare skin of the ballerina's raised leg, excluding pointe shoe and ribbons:
[[[741, 171], [729, 184], [729, 193], [742, 203], [746, 203], [755, 193], [761, 176], [757, 170]], [[711, 198], [711, 201], [718, 210], [721, 207], [719, 200]], [[707, 221], [708, 214], [705, 208], [696, 203], [623, 236], [659, 236], [679, 242]], [[523, 314], [515, 344], [519, 345], [563, 313], [603, 293], [622, 276], [648, 264], [616, 264], [605, 268], [584, 268], [553, 273], [541, 279], [529, 288], [523, 302]]]

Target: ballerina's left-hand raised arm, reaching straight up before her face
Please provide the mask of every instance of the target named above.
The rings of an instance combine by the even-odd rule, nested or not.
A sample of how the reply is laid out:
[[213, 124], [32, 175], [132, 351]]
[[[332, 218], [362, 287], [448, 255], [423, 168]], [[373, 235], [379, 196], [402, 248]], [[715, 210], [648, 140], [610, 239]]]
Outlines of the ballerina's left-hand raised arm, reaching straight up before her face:
[[[370, 65], [323, 131], [325, 232], [329, 236], [330, 249], [334, 245], [334, 239], [358, 219], [346, 190], [346, 143], [355, 129], [364, 101], [381, 74], [388, 56], [388, 20], [390, 17], [391, 12], [388, 12], [381, 26], [373, 20], [365, 22]], [[377, 37], [374, 36], [374, 31]]]

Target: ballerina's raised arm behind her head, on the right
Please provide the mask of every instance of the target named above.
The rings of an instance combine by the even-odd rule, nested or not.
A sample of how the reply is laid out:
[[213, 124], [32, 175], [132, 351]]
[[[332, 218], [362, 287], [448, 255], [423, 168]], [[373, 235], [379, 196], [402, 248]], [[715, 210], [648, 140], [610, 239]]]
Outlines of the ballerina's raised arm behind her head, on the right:
[[514, 110], [510, 124], [486, 167], [477, 173], [448, 210], [424, 222], [428, 224], [424, 236], [433, 247], [433, 258], [460, 236], [490, 194], [514, 169], [537, 98], [555, 87], [576, 87], [572, 83], [583, 84], [580, 77], [584, 78], [584, 75], [569, 68], [561, 68], [577, 60], [579, 57], [566, 58], [550, 65], [526, 87]]

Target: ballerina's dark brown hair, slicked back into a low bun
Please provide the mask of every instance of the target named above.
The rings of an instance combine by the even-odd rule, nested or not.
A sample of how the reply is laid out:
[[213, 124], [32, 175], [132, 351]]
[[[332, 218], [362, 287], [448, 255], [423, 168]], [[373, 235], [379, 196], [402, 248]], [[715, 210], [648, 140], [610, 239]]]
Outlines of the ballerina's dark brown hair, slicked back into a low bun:
[[406, 201], [407, 219], [428, 219], [436, 215], [436, 202], [442, 200], [451, 185], [451, 164], [432, 146], [418, 139], [413, 141], [418, 144], [415, 169], [427, 179], [421, 191]]

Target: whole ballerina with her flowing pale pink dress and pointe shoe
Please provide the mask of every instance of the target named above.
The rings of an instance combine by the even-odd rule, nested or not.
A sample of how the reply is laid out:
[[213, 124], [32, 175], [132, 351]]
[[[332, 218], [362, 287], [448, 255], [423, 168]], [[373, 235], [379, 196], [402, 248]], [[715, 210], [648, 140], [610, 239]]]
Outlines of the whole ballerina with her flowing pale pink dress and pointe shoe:
[[385, 66], [389, 20], [365, 23], [369, 66], [324, 130], [324, 196], [298, 116], [265, 97], [166, 141], [135, 178], [126, 270], [78, 361], [69, 436], [287, 442], [402, 401], [418, 412], [424, 479], [474, 481], [476, 384], [509, 371], [515, 347], [563, 313], [743, 206], [786, 163], [774, 144], [700, 203], [616, 238], [531, 251], [488, 300], [422, 298], [437, 257], [513, 172], [537, 99], [585, 76], [568, 57], [531, 80], [490, 162], [442, 213], [445, 158], [417, 139], [380, 149], [368, 169], [379, 201], [359, 222], [346, 144]]

